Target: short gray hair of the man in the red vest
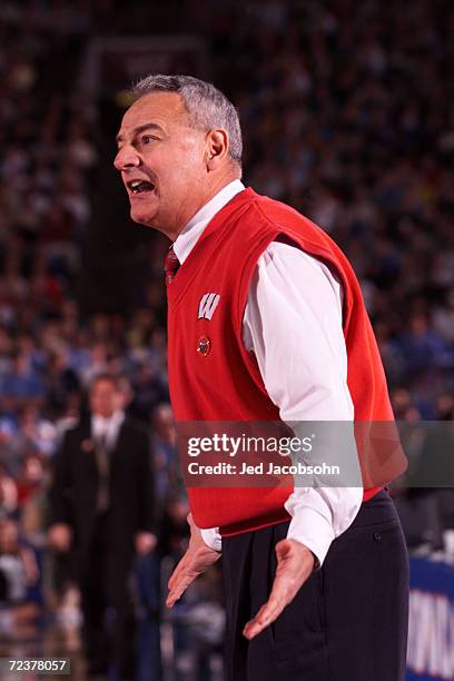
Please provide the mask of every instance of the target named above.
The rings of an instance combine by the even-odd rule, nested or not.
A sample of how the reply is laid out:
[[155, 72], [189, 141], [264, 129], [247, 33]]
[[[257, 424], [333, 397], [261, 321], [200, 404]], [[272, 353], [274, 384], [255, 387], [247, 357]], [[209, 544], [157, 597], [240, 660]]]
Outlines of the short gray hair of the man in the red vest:
[[229, 139], [228, 155], [241, 167], [243, 138], [238, 111], [214, 85], [193, 76], [156, 73], [142, 78], [131, 92], [136, 99], [151, 92], [177, 92], [188, 111], [190, 126], [203, 130], [226, 130]]

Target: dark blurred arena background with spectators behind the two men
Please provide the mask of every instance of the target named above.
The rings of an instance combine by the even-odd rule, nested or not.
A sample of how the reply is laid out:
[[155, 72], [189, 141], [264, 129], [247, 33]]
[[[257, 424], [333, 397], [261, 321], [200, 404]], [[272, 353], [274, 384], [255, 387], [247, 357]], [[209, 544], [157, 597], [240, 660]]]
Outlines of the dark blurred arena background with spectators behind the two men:
[[[99, 372], [121, 376], [128, 411], [152, 437], [161, 580], [185, 546], [167, 406], [168, 244], [130, 221], [112, 168], [127, 87], [184, 72], [238, 107], [246, 184], [320, 225], [361, 279], [396, 417], [411, 426], [409, 477], [394, 491], [412, 551], [408, 679], [454, 679], [454, 436], [426, 427], [454, 417], [453, 9], [448, 0], [1, 3], [2, 655], [66, 653], [72, 678], [85, 678], [78, 594], [47, 547], [47, 488]], [[446, 467], [417, 488], [412, 480], [436, 470], [441, 451]], [[135, 579], [147, 585], [149, 569], [138, 565]], [[141, 678], [221, 679], [218, 572], [172, 615], [155, 604], [144, 618], [147, 586], [138, 594]], [[147, 636], [157, 625], [164, 667], [154, 677]]]

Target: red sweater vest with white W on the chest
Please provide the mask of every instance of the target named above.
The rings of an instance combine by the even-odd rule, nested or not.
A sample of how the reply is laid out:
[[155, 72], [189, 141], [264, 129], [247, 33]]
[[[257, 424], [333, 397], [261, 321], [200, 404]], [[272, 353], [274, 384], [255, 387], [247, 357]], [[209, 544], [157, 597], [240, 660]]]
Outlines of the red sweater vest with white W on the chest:
[[[272, 241], [283, 238], [340, 276], [355, 422], [393, 421], [374, 333], [348, 260], [308, 219], [246, 189], [214, 217], [168, 286], [168, 368], [177, 422], [279, 421], [241, 334], [257, 260]], [[199, 319], [200, 300], [209, 293], [218, 294], [219, 303], [211, 319]], [[210, 340], [206, 356], [197, 352], [204, 336]], [[364, 480], [364, 473], [363, 482], [364, 500], [371, 499], [379, 487]], [[288, 520], [284, 503], [292, 491], [288, 486], [190, 487], [188, 495], [196, 524], [220, 526], [226, 535]]]

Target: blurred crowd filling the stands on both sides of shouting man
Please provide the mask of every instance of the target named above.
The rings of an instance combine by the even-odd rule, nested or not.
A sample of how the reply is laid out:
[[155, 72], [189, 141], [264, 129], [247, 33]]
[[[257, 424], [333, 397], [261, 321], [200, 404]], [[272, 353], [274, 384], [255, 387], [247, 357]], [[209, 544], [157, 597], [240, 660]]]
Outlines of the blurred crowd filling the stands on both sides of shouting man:
[[79, 304], [100, 162], [96, 101], [75, 88], [91, 36], [205, 39], [209, 77], [240, 111], [246, 184], [312, 217], [351, 258], [396, 416], [454, 417], [452, 3], [186, 1], [178, 19], [170, 2], [160, 26], [148, 4], [136, 19], [115, 0], [0, 9], [0, 570], [17, 578], [10, 593], [0, 580], [0, 601], [31, 604], [26, 621], [42, 602], [52, 456], [98, 373], [121, 377], [128, 414], [152, 434], [168, 550], [185, 536], [162, 283], [154, 274], [127, 315], [87, 318]]

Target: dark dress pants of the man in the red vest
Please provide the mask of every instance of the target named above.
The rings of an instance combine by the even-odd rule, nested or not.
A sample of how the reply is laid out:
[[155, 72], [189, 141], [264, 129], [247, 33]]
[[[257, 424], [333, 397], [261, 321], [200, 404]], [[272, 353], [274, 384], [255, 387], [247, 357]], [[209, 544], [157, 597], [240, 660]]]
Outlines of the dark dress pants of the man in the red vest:
[[227, 681], [404, 681], [408, 561], [387, 492], [363, 503], [278, 620], [248, 642], [288, 523], [223, 539]]

